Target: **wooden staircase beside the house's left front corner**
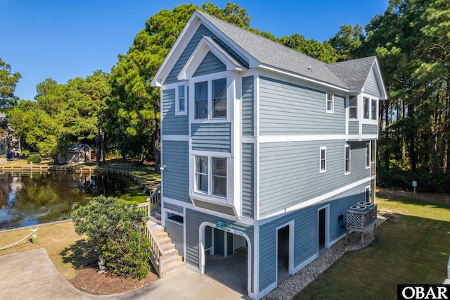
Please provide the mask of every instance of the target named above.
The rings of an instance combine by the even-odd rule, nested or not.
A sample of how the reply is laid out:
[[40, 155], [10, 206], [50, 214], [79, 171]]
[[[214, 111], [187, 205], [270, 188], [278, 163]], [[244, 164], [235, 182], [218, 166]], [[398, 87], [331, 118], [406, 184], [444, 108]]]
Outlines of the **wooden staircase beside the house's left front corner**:
[[186, 263], [179, 256], [178, 250], [175, 249], [175, 244], [172, 243], [172, 239], [165, 232], [164, 227], [152, 220], [148, 220], [147, 231], [152, 253], [150, 260], [160, 278], [186, 268]]

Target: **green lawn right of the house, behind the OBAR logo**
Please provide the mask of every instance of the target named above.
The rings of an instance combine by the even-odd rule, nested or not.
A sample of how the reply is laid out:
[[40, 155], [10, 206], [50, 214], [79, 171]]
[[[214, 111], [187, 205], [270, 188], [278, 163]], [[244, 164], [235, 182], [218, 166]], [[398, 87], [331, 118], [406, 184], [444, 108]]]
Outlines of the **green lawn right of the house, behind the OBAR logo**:
[[365, 249], [347, 252], [294, 299], [397, 299], [397, 284], [442, 284], [450, 254], [450, 205], [390, 197], [396, 215]]

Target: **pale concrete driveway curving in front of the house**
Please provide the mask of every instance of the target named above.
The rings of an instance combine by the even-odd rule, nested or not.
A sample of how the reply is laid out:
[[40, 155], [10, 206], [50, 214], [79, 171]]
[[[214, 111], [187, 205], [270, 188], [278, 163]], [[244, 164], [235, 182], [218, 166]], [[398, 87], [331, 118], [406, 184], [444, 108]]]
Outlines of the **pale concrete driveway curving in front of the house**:
[[248, 299], [210, 277], [184, 269], [124, 294], [94, 296], [75, 289], [44, 248], [0, 256], [0, 299]]

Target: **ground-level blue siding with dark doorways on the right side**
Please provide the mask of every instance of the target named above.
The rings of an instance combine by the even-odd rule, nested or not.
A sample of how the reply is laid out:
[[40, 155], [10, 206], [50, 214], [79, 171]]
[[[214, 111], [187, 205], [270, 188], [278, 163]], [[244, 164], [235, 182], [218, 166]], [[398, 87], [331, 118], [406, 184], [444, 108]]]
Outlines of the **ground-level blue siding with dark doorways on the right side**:
[[[294, 268], [317, 254], [318, 250], [318, 209], [330, 205], [330, 242], [345, 234], [347, 209], [365, 199], [365, 185], [349, 189], [314, 206], [283, 215], [259, 227], [259, 292], [276, 280], [276, 228], [294, 221]], [[338, 216], [344, 215], [339, 223]]]

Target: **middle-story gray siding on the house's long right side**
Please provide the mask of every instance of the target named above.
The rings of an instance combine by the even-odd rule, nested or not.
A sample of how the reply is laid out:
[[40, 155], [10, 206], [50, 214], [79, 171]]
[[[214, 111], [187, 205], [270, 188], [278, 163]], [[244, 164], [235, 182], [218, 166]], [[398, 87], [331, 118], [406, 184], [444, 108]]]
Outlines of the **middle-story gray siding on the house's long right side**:
[[[365, 142], [351, 145], [351, 173], [344, 175], [345, 141], [277, 142], [260, 145], [262, 217], [369, 177]], [[319, 173], [319, 148], [326, 146], [326, 173]]]

